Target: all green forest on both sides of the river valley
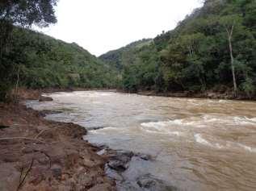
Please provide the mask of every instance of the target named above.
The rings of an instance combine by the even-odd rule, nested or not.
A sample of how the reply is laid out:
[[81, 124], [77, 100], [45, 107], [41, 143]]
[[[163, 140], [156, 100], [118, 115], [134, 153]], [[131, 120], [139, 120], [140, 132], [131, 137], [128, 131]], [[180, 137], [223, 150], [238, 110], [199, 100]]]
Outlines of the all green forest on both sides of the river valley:
[[255, 96], [255, 0], [206, 0], [174, 30], [99, 58], [78, 44], [30, 30], [57, 23], [56, 5], [0, 2], [0, 100], [17, 86]]

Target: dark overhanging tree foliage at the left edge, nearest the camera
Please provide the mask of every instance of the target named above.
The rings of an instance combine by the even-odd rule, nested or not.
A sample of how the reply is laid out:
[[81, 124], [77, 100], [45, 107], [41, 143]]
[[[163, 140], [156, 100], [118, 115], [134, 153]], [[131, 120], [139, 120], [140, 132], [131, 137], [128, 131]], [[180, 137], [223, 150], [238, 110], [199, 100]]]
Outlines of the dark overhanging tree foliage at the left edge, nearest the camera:
[[[32, 24], [46, 27], [50, 23], [56, 23], [53, 7], [57, 0], [2, 0], [0, 2], [0, 101], [6, 99], [8, 90], [14, 84], [14, 76], [24, 60], [23, 52], [17, 50], [26, 48], [22, 40], [15, 42], [12, 36], [14, 26], [31, 27]], [[14, 44], [15, 42], [15, 44]], [[28, 45], [29, 46], [29, 45]]]

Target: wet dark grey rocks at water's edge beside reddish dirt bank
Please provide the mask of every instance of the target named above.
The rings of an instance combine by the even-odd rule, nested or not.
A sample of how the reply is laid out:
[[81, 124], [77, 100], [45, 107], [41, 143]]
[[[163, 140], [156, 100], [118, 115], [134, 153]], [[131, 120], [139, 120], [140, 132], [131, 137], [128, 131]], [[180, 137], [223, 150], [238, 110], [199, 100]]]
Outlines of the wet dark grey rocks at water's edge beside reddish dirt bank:
[[153, 174], [138, 171], [135, 163], [145, 164], [153, 162], [154, 157], [143, 153], [123, 150], [112, 150], [106, 146], [97, 152], [108, 162], [105, 172], [111, 180], [115, 181], [119, 191], [175, 191], [178, 190], [166, 181], [159, 180]]

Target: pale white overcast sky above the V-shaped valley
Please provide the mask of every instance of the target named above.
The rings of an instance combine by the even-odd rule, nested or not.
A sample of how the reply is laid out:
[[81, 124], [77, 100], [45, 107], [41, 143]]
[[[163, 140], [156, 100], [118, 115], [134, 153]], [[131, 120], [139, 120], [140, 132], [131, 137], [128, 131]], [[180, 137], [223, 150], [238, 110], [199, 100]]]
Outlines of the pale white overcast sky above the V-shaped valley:
[[58, 23], [45, 34], [99, 56], [135, 40], [170, 31], [200, 0], [59, 0]]

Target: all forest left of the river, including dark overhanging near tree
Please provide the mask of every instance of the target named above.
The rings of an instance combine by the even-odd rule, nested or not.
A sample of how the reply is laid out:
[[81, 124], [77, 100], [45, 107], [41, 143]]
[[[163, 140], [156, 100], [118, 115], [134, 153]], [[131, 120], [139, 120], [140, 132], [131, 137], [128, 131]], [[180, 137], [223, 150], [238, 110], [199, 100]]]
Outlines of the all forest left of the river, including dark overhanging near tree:
[[56, 23], [57, 1], [0, 2], [0, 100], [11, 89], [113, 88], [117, 73], [78, 44], [32, 31]]

